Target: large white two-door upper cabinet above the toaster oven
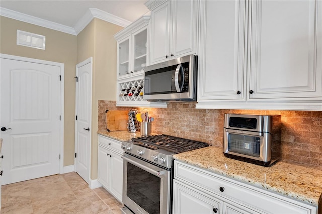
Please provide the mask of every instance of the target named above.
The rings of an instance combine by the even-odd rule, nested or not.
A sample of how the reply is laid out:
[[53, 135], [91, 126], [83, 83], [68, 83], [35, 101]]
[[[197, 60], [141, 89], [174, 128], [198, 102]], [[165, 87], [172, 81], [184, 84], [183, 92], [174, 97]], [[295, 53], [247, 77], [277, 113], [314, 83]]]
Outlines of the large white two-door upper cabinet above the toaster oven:
[[200, 11], [197, 108], [322, 110], [321, 1], [201, 1]]

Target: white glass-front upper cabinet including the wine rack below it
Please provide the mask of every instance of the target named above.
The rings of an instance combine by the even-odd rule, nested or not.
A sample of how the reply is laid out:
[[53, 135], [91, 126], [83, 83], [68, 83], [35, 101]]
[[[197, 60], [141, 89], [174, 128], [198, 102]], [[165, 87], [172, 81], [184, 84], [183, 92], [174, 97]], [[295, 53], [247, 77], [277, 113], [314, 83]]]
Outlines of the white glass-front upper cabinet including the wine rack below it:
[[116, 106], [167, 107], [144, 97], [144, 68], [149, 65], [150, 16], [142, 16], [114, 35], [117, 41]]

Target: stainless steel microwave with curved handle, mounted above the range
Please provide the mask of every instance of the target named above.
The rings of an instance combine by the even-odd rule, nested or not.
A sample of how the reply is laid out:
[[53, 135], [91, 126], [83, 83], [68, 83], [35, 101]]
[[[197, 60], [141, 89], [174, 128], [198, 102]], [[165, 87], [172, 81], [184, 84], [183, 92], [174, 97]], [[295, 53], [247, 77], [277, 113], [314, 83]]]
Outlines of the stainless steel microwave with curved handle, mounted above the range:
[[144, 69], [144, 100], [196, 101], [198, 57], [188, 55]]

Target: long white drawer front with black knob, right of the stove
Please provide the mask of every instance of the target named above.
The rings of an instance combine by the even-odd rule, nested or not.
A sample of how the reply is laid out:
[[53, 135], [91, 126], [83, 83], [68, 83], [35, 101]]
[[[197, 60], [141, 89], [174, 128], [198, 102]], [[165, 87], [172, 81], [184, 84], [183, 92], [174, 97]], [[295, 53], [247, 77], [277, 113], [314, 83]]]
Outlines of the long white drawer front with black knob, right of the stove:
[[[175, 161], [174, 179], [265, 213], [314, 213], [316, 207]], [[312, 212], [313, 211], [313, 212]]]

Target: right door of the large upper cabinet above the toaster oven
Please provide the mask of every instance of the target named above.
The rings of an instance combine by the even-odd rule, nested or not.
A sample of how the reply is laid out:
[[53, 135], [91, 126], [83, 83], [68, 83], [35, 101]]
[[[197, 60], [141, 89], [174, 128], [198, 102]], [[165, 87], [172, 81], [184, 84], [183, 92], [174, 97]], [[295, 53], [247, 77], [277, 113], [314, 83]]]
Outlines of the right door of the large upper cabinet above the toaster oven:
[[249, 98], [322, 96], [322, 2], [251, 1]]

